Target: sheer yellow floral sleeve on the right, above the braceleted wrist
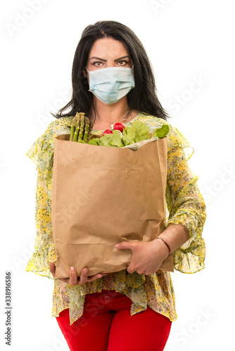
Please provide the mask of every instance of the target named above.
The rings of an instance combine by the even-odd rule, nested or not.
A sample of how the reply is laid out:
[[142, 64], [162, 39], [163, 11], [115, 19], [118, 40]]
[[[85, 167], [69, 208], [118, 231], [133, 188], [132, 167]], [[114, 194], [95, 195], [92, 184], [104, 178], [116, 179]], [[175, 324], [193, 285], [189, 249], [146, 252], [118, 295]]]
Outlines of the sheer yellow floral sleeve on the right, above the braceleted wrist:
[[181, 223], [189, 230], [191, 237], [174, 251], [174, 269], [194, 273], [205, 267], [205, 241], [202, 237], [205, 202], [197, 185], [198, 176], [192, 173], [187, 162], [193, 153], [188, 140], [173, 127], [173, 137], [170, 134], [168, 145], [167, 225]]

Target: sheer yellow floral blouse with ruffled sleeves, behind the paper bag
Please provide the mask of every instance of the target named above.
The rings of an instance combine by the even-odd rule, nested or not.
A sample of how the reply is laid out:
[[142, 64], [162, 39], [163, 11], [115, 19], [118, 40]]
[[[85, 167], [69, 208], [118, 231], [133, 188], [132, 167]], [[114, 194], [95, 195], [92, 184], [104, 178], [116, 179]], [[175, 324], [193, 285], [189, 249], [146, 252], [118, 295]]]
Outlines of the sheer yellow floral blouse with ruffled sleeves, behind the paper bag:
[[[72, 117], [56, 119], [49, 124], [27, 152], [37, 164], [36, 191], [36, 237], [34, 253], [27, 263], [26, 271], [54, 279], [49, 271], [49, 262], [56, 261], [51, 230], [51, 183], [53, 172], [53, 145], [57, 135], [70, 133]], [[183, 273], [194, 273], [205, 267], [205, 242], [201, 236], [205, 223], [205, 203], [197, 185], [197, 176], [191, 172], [187, 159], [193, 154], [189, 141], [177, 128], [158, 117], [139, 112], [132, 122], [141, 121], [153, 132], [163, 124], [168, 124], [168, 162], [166, 206], [169, 223], [182, 223], [189, 229], [191, 238], [174, 251], [174, 269]], [[99, 134], [101, 131], [94, 131]], [[152, 160], [150, 160], [152, 161]], [[70, 311], [70, 325], [82, 316], [85, 295], [101, 292], [102, 289], [124, 293], [132, 300], [131, 315], [146, 310], [147, 305], [164, 314], [171, 321], [177, 320], [174, 289], [170, 272], [158, 270], [145, 275], [127, 270], [108, 274], [94, 282], [71, 286], [54, 279], [52, 317], [57, 317], [65, 308]]]

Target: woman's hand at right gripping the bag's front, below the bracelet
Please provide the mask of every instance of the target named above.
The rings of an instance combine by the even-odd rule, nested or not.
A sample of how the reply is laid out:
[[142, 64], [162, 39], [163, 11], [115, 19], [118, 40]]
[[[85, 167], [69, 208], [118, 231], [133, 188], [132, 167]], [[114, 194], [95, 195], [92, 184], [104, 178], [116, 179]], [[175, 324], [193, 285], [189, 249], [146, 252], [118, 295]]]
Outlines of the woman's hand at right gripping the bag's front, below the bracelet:
[[127, 267], [129, 273], [136, 271], [139, 274], [153, 274], [169, 255], [167, 246], [161, 240], [122, 241], [115, 248], [132, 250], [132, 260]]

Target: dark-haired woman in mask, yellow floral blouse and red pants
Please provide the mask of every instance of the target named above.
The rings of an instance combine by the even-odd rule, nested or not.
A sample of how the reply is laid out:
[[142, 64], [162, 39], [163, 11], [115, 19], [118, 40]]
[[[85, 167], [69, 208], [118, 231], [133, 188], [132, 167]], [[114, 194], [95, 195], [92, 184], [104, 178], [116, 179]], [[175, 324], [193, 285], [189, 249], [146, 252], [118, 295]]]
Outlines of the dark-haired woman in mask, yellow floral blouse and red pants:
[[[65, 113], [65, 110], [70, 111]], [[156, 95], [146, 51], [131, 29], [115, 21], [101, 21], [84, 29], [72, 65], [72, 100], [56, 121], [32, 145], [27, 155], [37, 164], [37, 235], [26, 270], [53, 278], [56, 252], [51, 231], [53, 142], [70, 133], [76, 112], [84, 112], [99, 134], [117, 121], [141, 121], [154, 131], [167, 123]], [[204, 268], [201, 237], [205, 204], [187, 159], [188, 140], [170, 124], [167, 135], [166, 201], [170, 213], [165, 230], [151, 242], [122, 242], [132, 250], [127, 270], [54, 279], [52, 317], [70, 350], [160, 351], [177, 319], [170, 272], [158, 270], [170, 253], [174, 269], [184, 273]]]

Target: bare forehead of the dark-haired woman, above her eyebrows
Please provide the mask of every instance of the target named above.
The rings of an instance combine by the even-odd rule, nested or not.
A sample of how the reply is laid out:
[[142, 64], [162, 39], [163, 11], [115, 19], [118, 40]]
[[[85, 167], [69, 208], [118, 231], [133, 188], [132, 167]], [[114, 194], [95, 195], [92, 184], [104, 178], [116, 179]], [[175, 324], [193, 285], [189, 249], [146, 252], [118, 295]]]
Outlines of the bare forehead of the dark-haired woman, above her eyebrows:
[[94, 42], [89, 58], [98, 56], [99, 58], [118, 58], [128, 55], [127, 48], [122, 41], [113, 38], [102, 38]]

